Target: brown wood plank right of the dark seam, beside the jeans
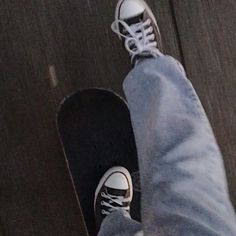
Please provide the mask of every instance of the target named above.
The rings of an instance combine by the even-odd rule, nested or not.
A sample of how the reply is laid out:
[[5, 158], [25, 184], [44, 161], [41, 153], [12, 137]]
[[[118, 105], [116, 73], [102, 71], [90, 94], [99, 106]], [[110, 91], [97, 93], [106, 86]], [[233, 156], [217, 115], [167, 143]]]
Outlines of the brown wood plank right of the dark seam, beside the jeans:
[[222, 150], [236, 207], [236, 1], [172, 4], [187, 74]]

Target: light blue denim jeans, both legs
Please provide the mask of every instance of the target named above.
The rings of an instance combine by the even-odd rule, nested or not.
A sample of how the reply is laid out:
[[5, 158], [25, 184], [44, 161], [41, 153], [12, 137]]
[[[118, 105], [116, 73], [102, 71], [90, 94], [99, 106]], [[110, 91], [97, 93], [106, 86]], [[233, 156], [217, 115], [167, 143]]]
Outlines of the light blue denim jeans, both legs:
[[236, 235], [221, 152], [182, 65], [160, 55], [127, 75], [141, 176], [142, 223], [115, 211], [99, 236]]

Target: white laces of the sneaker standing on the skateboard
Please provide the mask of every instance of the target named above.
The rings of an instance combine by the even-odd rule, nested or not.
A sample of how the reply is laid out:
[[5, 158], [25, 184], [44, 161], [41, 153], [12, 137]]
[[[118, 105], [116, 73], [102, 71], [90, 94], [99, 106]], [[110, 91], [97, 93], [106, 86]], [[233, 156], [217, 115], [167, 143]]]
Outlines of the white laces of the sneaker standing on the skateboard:
[[[129, 206], [127, 206], [127, 207], [123, 206], [123, 203], [130, 201], [129, 198], [124, 198], [123, 196], [114, 196], [114, 195], [110, 195], [110, 194], [104, 193], [104, 192], [101, 193], [101, 196], [108, 200], [108, 202], [101, 201], [101, 205], [109, 208], [109, 211], [102, 209], [101, 213], [103, 215], [109, 215], [112, 211], [118, 210], [118, 209], [128, 211], [130, 208]], [[119, 206], [113, 206], [113, 205], [111, 205], [112, 203], [116, 203]]]

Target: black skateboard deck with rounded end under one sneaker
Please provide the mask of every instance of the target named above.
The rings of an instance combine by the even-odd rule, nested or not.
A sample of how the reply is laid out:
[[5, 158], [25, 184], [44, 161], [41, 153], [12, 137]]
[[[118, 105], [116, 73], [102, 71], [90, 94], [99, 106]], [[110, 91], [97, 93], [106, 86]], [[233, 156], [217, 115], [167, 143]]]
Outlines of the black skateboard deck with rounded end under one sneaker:
[[96, 187], [114, 166], [131, 173], [131, 216], [140, 221], [137, 151], [125, 101], [108, 90], [78, 91], [62, 101], [57, 128], [89, 235], [97, 234], [93, 209]]

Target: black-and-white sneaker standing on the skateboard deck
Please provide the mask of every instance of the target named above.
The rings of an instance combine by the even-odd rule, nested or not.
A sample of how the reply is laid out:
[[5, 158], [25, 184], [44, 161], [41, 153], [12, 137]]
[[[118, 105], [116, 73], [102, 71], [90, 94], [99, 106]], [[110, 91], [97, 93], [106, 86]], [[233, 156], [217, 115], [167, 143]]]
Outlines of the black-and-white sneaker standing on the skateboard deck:
[[97, 228], [111, 212], [121, 209], [130, 212], [133, 198], [132, 180], [124, 167], [109, 169], [100, 180], [95, 192], [94, 213]]

